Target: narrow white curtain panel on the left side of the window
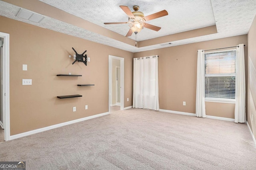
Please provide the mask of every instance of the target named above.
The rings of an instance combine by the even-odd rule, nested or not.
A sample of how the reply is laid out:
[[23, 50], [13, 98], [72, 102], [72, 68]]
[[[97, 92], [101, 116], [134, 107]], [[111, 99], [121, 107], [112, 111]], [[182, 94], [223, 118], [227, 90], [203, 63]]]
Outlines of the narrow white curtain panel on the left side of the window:
[[204, 51], [197, 52], [196, 116], [206, 117], [204, 103]]

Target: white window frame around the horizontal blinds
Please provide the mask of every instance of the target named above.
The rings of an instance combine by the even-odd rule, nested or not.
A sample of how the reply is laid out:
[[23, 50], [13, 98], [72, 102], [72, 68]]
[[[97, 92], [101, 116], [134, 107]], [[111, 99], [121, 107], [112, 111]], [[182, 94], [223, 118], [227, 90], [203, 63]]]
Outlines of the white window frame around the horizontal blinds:
[[[210, 52], [205, 52], [205, 54], [209, 54], [209, 53], [221, 53], [221, 52], [227, 52], [227, 51], [236, 51], [236, 49], [228, 49], [228, 50], [219, 50], [219, 51], [210, 51]], [[236, 54], [237, 55], [237, 54]], [[237, 58], [237, 56], [236, 56]], [[236, 60], [236, 64], [237, 64], [237, 60]], [[205, 66], [205, 64], [204, 64]], [[205, 70], [204, 70], [205, 71]], [[205, 77], [205, 74], [204, 74]], [[236, 77], [236, 75], [235, 75]], [[205, 86], [205, 82], [204, 82], [204, 86]], [[236, 88], [236, 87], [235, 87]], [[204, 89], [204, 93], [205, 93], [205, 89]], [[236, 103], [236, 97], [234, 99], [225, 99], [225, 98], [206, 98], [204, 96], [204, 101], [205, 102], [217, 102], [217, 103], [229, 103], [229, 104], [235, 104]]]

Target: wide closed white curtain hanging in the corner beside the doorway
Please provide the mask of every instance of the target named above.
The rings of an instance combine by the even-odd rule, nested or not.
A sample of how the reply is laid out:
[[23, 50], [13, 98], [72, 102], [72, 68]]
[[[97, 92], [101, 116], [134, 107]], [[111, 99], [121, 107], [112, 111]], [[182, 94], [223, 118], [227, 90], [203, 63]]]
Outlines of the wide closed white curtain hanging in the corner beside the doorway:
[[133, 59], [133, 107], [159, 110], [158, 56]]

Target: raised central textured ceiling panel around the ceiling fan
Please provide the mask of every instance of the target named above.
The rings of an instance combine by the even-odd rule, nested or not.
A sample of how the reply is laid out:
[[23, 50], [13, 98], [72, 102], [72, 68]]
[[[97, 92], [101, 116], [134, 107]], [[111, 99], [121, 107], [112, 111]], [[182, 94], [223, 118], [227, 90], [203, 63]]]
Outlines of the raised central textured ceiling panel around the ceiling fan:
[[[126, 22], [128, 16], [120, 5], [128, 6], [131, 11], [134, 5], [140, 6], [139, 11], [144, 16], [167, 10], [168, 16], [147, 21], [152, 25], [162, 27], [160, 31], [143, 29], [137, 35], [137, 41], [161, 37], [178, 32], [215, 25], [214, 14], [210, 0], [40, 0], [70, 14], [96, 23], [102, 27], [126, 35], [128, 24], [104, 25], [104, 22]], [[200, 5], [198, 5], [200, 4]], [[131, 37], [135, 39], [135, 35]]]

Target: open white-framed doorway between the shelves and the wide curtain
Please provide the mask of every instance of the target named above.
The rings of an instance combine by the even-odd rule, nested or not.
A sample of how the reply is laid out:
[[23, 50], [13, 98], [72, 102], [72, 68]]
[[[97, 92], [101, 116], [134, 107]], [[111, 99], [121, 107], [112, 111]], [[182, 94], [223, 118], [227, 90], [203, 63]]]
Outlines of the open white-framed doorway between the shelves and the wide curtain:
[[108, 111], [124, 109], [124, 58], [109, 55]]

